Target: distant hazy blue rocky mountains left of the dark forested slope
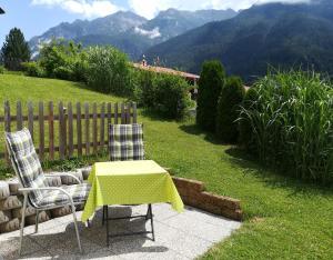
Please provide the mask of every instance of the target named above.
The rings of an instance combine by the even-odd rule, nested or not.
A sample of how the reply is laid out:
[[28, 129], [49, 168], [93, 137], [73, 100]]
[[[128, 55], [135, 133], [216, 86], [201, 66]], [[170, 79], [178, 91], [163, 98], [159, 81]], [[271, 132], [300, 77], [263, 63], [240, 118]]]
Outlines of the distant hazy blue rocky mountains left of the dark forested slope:
[[75, 20], [62, 22], [39, 37], [33, 37], [30, 48], [34, 56], [43, 42], [64, 38], [82, 42], [83, 46], [112, 44], [137, 59], [149, 47], [167, 41], [193, 28], [211, 21], [221, 21], [236, 16], [228, 10], [181, 11], [168, 9], [155, 18], [147, 20], [131, 11], [119, 11], [92, 21]]

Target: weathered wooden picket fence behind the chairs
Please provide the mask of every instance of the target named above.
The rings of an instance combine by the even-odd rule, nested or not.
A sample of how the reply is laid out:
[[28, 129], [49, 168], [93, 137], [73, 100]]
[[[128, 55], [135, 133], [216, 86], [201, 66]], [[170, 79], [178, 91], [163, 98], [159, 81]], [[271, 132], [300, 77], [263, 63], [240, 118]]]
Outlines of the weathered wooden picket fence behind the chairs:
[[[70, 158], [75, 152], [79, 157], [95, 154], [108, 144], [110, 123], [137, 122], [134, 102], [99, 104], [77, 102], [75, 106], [71, 102], [65, 106], [59, 102], [58, 109], [54, 108], [50, 101], [39, 102], [37, 107], [29, 102], [27, 109], [22, 109], [22, 102], [18, 101], [16, 114], [12, 114], [10, 102], [6, 101], [4, 113], [0, 114], [0, 124], [3, 123], [3, 130], [8, 132], [27, 127], [40, 159], [43, 160], [48, 153], [48, 160], [54, 160]], [[6, 147], [2, 146], [1, 149], [3, 151], [0, 150], [0, 159], [8, 160]]]

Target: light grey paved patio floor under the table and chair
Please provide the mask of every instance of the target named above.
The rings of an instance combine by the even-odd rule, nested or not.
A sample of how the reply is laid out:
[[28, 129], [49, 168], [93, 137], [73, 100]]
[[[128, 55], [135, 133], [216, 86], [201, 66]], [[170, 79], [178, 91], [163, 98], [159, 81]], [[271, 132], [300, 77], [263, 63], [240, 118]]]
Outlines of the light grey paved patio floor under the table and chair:
[[[110, 207], [110, 217], [145, 213], [147, 206]], [[82, 211], [77, 214], [80, 218]], [[238, 221], [185, 207], [176, 213], [170, 204], [153, 204], [155, 241], [149, 237], [112, 238], [107, 248], [105, 227], [100, 209], [85, 228], [80, 223], [84, 253], [80, 254], [72, 216], [65, 216], [24, 229], [21, 259], [194, 259], [215, 242], [228, 238], [241, 227]], [[142, 231], [150, 229], [142, 219], [110, 221], [110, 231]], [[18, 259], [19, 231], [0, 234], [0, 259]]]

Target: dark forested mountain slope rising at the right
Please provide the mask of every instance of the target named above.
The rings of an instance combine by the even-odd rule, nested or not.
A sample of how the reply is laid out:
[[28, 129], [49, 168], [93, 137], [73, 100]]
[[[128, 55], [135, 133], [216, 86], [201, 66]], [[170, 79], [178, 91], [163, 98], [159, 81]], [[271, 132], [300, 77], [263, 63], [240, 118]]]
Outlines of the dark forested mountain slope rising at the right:
[[333, 74], [333, 3], [253, 6], [226, 21], [208, 23], [154, 46], [145, 53], [199, 72], [204, 60], [221, 60], [246, 81], [268, 64], [313, 67]]

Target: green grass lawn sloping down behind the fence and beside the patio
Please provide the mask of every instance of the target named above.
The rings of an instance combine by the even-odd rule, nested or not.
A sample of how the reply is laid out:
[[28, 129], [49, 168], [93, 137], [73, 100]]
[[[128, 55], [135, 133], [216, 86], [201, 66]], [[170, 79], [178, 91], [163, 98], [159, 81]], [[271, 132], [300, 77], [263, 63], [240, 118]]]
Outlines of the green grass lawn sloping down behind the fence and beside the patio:
[[[119, 100], [81, 87], [59, 80], [0, 76], [0, 99]], [[242, 228], [202, 259], [333, 259], [332, 187], [304, 183], [261, 168], [191, 121], [168, 121], [143, 111], [139, 121], [144, 123], [149, 158], [172, 168], [175, 176], [204, 181], [209, 191], [242, 201]]]

